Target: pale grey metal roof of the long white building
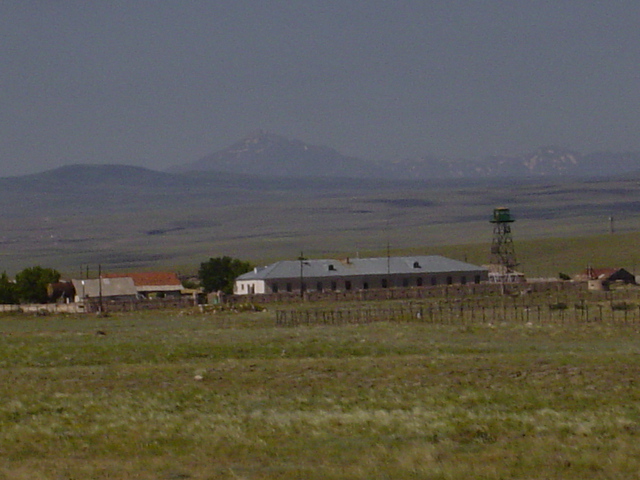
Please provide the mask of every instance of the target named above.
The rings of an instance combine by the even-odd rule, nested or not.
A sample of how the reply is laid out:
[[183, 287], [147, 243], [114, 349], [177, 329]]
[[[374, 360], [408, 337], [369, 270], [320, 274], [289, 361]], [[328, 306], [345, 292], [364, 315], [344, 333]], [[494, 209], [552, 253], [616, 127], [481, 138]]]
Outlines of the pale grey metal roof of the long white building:
[[[486, 268], [440, 255], [415, 257], [353, 258], [346, 260], [304, 260], [302, 275], [313, 278], [336, 278], [362, 275], [399, 275], [416, 273], [482, 272]], [[285, 260], [258, 267], [236, 280], [299, 278], [300, 261]]]

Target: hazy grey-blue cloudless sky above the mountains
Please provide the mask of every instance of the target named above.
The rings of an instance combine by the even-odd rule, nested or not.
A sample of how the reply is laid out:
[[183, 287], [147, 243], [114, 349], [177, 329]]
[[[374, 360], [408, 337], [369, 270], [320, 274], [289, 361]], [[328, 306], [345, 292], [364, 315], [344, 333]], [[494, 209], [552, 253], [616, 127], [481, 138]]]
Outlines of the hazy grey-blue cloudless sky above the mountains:
[[0, 2], [0, 176], [263, 129], [372, 159], [640, 151], [640, 2]]

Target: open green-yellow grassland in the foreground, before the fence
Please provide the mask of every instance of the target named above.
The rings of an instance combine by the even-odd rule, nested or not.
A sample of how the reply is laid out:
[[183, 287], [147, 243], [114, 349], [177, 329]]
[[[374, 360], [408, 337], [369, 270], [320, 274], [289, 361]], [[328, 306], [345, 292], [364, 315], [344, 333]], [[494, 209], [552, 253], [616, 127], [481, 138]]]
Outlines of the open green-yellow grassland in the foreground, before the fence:
[[0, 319], [0, 479], [640, 478], [640, 324]]

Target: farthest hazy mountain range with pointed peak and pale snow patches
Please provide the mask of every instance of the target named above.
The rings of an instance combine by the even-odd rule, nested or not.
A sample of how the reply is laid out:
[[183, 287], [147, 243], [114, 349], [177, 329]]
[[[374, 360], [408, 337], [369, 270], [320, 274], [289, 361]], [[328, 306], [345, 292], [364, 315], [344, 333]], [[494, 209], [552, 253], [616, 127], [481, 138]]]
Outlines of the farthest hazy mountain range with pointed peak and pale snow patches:
[[258, 131], [229, 148], [172, 172], [218, 171], [277, 177], [351, 177], [387, 179], [490, 179], [536, 177], [609, 177], [640, 171], [640, 152], [581, 154], [560, 147], [541, 147], [521, 155], [494, 155], [480, 160], [423, 156], [373, 162], [342, 155], [280, 135]]

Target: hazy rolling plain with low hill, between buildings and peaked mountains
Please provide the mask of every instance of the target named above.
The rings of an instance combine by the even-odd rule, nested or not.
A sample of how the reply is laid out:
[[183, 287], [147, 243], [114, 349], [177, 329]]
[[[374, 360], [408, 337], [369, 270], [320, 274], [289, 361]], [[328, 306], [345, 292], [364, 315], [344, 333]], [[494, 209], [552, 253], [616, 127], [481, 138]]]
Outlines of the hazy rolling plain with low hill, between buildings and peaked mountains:
[[587, 263], [635, 269], [638, 186], [637, 176], [283, 180], [65, 167], [0, 179], [0, 270], [43, 265], [74, 276], [87, 266], [95, 274], [101, 265], [194, 273], [209, 257], [266, 264], [300, 252], [315, 258], [441, 253], [483, 264], [497, 206], [516, 218], [516, 252], [529, 275], [574, 273]]

